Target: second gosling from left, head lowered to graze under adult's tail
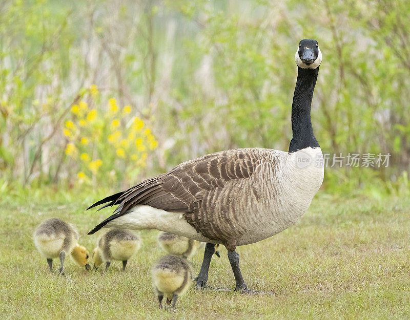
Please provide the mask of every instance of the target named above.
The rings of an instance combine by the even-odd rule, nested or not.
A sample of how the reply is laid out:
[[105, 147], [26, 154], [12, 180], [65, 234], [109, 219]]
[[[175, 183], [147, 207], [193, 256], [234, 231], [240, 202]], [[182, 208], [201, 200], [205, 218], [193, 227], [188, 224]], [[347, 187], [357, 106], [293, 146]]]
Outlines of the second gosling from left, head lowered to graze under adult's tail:
[[112, 229], [98, 239], [97, 247], [93, 251], [94, 268], [103, 262], [106, 268], [111, 260], [122, 261], [122, 271], [125, 271], [128, 260], [138, 251], [141, 243], [139, 238], [128, 230]]

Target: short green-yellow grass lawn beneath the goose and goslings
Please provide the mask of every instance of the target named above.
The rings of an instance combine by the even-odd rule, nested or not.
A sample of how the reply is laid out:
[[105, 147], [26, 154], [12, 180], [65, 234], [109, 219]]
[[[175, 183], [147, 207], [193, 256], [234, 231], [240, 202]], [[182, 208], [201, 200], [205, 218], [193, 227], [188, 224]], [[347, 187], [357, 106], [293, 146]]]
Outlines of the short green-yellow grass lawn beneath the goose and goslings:
[[[109, 210], [85, 212], [92, 201], [0, 202], [0, 315], [34, 319], [404, 319], [410, 317], [410, 200], [337, 200], [318, 195], [299, 223], [270, 239], [238, 247], [248, 287], [276, 296], [197, 292], [180, 297], [175, 313], [157, 309], [150, 268], [164, 253], [157, 231], [138, 231], [143, 245], [128, 264], [87, 272], [66, 260], [66, 277], [51, 274], [32, 242], [41, 221], [59, 217], [87, 236]], [[209, 284], [232, 288], [222, 248]], [[191, 259], [197, 273], [202, 249]], [[54, 266], [58, 264], [54, 261]]]

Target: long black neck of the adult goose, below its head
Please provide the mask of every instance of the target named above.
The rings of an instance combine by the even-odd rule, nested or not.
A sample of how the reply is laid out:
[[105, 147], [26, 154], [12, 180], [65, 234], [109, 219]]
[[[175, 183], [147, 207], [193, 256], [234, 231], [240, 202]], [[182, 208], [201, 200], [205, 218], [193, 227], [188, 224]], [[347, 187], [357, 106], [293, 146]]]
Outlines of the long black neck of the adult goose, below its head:
[[319, 67], [302, 69], [298, 66], [295, 93], [292, 102], [292, 140], [289, 152], [307, 147], [319, 147], [311, 122], [311, 104]]

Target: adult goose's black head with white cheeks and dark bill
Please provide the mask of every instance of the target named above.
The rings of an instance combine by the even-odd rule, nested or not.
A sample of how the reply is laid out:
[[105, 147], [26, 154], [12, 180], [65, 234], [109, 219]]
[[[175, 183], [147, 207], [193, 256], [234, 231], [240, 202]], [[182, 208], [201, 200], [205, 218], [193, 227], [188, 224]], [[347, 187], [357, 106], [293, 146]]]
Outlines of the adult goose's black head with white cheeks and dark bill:
[[316, 40], [303, 39], [295, 54], [296, 64], [303, 69], [316, 69], [322, 62], [322, 53]]

